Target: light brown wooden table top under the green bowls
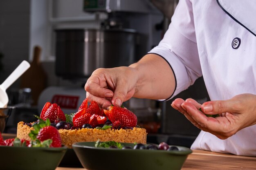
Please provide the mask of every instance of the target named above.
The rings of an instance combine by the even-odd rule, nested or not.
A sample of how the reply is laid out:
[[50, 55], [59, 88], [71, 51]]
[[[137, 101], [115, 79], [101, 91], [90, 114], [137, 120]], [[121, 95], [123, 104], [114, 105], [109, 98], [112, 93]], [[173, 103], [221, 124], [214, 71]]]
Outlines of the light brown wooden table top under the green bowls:
[[[221, 154], [193, 150], [181, 170], [256, 170], [256, 157]], [[86, 170], [84, 168], [58, 167], [56, 170]]]

